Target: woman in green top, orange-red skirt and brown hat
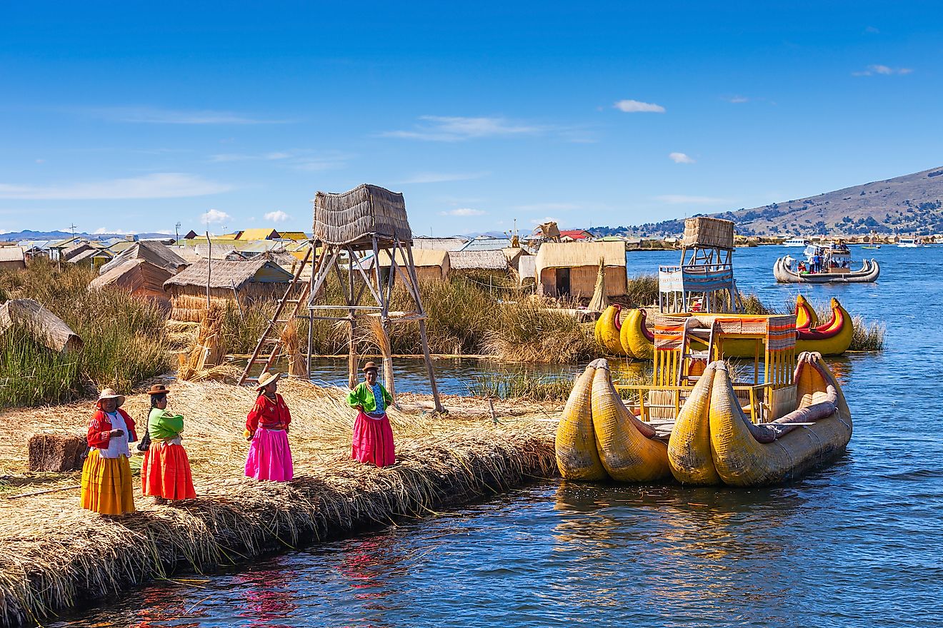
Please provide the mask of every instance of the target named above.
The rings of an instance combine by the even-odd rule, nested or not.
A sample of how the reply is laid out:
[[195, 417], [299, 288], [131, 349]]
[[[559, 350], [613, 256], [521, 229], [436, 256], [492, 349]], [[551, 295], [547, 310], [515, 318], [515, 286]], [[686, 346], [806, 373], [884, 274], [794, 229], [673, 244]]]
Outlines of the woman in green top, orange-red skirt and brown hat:
[[154, 497], [157, 503], [166, 499], [193, 499], [193, 477], [190, 459], [181, 443], [183, 417], [167, 411], [167, 394], [163, 384], [151, 386], [151, 413], [147, 431], [151, 444], [141, 464], [141, 492]]

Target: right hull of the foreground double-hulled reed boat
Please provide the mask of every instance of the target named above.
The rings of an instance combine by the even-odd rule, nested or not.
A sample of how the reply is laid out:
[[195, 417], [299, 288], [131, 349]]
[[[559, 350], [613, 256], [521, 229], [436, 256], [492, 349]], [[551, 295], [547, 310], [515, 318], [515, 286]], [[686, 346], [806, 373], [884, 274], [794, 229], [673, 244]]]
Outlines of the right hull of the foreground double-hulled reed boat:
[[[761, 443], [748, 427], [726, 364], [709, 364], [671, 431], [672, 475], [692, 485], [767, 486], [796, 479], [839, 456], [852, 438], [851, 411], [819, 354], [803, 353], [800, 365], [797, 411], [816, 411], [826, 397], [834, 395], [831, 413], [811, 426], [794, 427], [772, 442]], [[699, 390], [707, 378], [709, 383]]]

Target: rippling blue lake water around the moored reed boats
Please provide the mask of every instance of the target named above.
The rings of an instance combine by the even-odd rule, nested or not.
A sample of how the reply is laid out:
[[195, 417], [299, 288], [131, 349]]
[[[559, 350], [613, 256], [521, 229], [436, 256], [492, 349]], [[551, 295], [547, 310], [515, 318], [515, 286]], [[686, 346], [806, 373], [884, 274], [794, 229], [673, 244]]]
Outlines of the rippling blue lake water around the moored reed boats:
[[[854, 435], [815, 475], [749, 491], [550, 482], [47, 625], [937, 625], [943, 248], [858, 251], [879, 282], [802, 288], [772, 281], [787, 251], [737, 250], [740, 289], [835, 296], [887, 324], [884, 353], [833, 362]], [[677, 258], [631, 253], [629, 272]]]

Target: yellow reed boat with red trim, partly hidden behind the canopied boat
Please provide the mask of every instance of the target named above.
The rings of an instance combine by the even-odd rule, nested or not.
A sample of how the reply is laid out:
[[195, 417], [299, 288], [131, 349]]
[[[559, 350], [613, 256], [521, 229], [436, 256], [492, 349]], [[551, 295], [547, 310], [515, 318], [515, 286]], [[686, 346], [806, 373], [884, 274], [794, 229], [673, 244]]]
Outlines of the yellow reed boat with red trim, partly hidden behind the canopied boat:
[[[822, 355], [841, 355], [852, 345], [852, 336], [854, 335], [854, 323], [852, 314], [842, 307], [837, 298], [831, 302], [832, 318], [825, 324], [819, 325], [819, 318], [815, 310], [809, 305], [802, 295], [796, 297], [796, 332], [797, 332], [797, 350], [799, 351], [818, 351]], [[613, 306], [614, 307], [614, 306]], [[697, 313], [691, 314], [671, 314], [674, 316], [697, 316]], [[603, 320], [601, 317], [600, 320]], [[615, 329], [618, 317], [610, 316], [606, 318], [604, 325], [610, 330]], [[646, 323], [648, 314], [643, 308], [628, 310], [622, 317], [619, 324], [620, 352], [616, 355], [627, 355], [637, 360], [648, 360], [652, 357], [654, 347], [654, 333], [649, 330]], [[606, 348], [614, 345], [614, 331], [609, 331]], [[698, 340], [694, 339], [694, 346], [705, 348]], [[728, 340], [724, 355], [729, 358], [753, 358], [755, 357], [756, 346], [751, 340]]]

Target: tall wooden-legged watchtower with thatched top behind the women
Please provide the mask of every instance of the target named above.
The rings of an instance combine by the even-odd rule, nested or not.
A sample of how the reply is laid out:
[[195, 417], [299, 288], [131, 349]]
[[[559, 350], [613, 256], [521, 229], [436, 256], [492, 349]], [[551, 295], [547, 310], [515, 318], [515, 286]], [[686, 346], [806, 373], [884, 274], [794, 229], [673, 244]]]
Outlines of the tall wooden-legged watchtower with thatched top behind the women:
[[[436, 410], [443, 411], [438, 400], [436, 374], [429, 356], [425, 312], [419, 293], [419, 278], [412, 252], [412, 230], [406, 218], [403, 195], [378, 185], [358, 185], [340, 194], [318, 192], [314, 198], [312, 247], [317, 258], [311, 272], [308, 311], [308, 351], [313, 343], [315, 319], [344, 320], [348, 323], [348, 383], [357, 381], [355, 330], [367, 316], [378, 316], [383, 334], [389, 337], [389, 324], [416, 321], [419, 325], [422, 354], [432, 387]], [[381, 255], [382, 252], [382, 255]], [[389, 260], [389, 272], [371, 272], [363, 260]], [[344, 305], [324, 302], [322, 288], [330, 273], [340, 282]], [[415, 303], [411, 312], [390, 312], [389, 298], [394, 283], [399, 281]], [[369, 297], [367, 293], [369, 292]], [[367, 301], [367, 303], [365, 303]], [[388, 384], [392, 377], [392, 359], [384, 352], [384, 374]], [[392, 392], [392, 391], [391, 391]]]

